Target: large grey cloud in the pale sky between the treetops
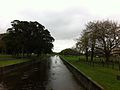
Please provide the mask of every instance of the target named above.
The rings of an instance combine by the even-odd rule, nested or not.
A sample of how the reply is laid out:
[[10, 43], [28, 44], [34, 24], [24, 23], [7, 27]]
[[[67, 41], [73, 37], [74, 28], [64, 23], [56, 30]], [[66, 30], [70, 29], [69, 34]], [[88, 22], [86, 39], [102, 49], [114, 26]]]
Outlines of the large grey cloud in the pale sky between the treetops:
[[25, 10], [21, 12], [21, 15], [26, 19], [37, 20], [45, 25], [57, 40], [72, 39], [80, 35], [84, 24], [91, 16], [87, 11], [77, 8], [59, 12]]

